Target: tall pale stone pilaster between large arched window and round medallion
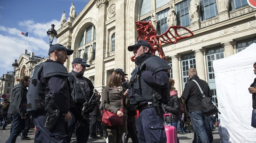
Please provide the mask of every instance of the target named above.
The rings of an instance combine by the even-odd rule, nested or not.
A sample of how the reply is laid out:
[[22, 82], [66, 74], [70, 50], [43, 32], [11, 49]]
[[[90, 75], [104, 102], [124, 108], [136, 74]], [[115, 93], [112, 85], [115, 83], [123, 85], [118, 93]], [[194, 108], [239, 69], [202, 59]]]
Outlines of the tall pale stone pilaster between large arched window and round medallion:
[[101, 32], [97, 32], [97, 47], [101, 47], [101, 48], [96, 48], [96, 52], [95, 52], [95, 82], [94, 82], [94, 87], [96, 90], [101, 90], [101, 88], [103, 88], [103, 75], [104, 75], [104, 62], [103, 62], [103, 56], [104, 53], [104, 49], [105, 49], [105, 11], [106, 11], [106, 4], [105, 3], [99, 3], [98, 6], [98, 31]]

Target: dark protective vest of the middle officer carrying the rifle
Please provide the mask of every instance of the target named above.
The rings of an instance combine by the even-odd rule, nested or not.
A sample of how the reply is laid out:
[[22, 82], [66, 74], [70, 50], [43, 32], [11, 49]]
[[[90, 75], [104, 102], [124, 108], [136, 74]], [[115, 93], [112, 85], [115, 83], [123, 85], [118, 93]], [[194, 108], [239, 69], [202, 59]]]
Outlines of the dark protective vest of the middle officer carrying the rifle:
[[[73, 77], [73, 75], [71, 73], [69, 73], [71, 76], [72, 76], [72, 85], [73, 85], [73, 90], [71, 92], [71, 96], [73, 98], [73, 100], [75, 101], [75, 103], [77, 104], [84, 104], [84, 102], [89, 102], [90, 98], [89, 98], [89, 95], [90, 95], [90, 92], [91, 92], [91, 89], [90, 89], [90, 86], [88, 84], [88, 80], [87, 78], [83, 77], [83, 78], [77, 78], [78, 81], [76, 80], [75, 77]], [[84, 92], [85, 92], [85, 96], [83, 95], [83, 92], [82, 92], [82, 89], [80, 88], [80, 85], [79, 83], [81, 84]]]

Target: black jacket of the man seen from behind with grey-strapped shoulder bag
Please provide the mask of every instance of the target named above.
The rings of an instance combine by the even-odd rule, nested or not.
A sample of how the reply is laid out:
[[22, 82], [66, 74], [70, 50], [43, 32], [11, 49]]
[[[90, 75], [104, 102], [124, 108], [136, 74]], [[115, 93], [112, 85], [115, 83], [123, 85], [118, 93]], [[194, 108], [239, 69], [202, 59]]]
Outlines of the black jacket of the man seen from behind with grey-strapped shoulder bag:
[[181, 97], [185, 100], [185, 103], [186, 103], [186, 106], [188, 107], [189, 112], [203, 111], [203, 107], [201, 103], [203, 99], [203, 95], [201, 94], [197, 84], [192, 80], [197, 81], [197, 83], [203, 90], [204, 95], [206, 97], [212, 97], [208, 83], [204, 80], [201, 80], [197, 75], [191, 77], [189, 81], [185, 83], [185, 88], [183, 90]]

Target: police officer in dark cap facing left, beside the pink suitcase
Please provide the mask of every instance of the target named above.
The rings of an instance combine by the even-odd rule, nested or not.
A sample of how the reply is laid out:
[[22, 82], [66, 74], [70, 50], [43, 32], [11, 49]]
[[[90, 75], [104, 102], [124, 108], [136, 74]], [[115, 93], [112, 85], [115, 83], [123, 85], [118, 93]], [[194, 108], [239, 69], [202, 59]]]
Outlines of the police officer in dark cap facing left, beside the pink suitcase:
[[170, 97], [167, 73], [170, 66], [165, 60], [152, 55], [150, 49], [149, 43], [144, 40], [128, 46], [137, 65], [129, 82], [129, 97], [131, 104], [137, 105], [139, 110], [139, 142], [166, 143], [161, 105]]

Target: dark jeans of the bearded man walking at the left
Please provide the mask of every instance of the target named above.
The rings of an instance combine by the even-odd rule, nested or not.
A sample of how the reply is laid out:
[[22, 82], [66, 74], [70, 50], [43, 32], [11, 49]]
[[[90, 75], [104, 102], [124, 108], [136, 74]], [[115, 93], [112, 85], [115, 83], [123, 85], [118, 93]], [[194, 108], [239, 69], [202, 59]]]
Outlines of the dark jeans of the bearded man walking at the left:
[[18, 135], [26, 126], [26, 120], [22, 119], [19, 114], [12, 114], [12, 132], [5, 143], [15, 143]]

